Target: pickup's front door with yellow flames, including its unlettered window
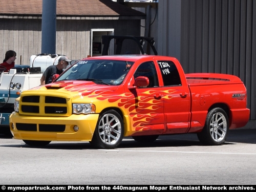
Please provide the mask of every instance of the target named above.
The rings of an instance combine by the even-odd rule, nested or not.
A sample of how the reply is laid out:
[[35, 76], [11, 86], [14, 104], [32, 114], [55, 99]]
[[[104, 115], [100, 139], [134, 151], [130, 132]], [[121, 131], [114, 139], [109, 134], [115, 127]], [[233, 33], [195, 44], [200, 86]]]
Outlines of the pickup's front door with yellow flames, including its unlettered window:
[[163, 116], [163, 93], [159, 87], [156, 67], [153, 61], [141, 63], [134, 73], [134, 79], [138, 76], [147, 77], [150, 84], [147, 87], [136, 88], [134, 114], [131, 117], [134, 121], [133, 131], [139, 135], [160, 135], [164, 131]]

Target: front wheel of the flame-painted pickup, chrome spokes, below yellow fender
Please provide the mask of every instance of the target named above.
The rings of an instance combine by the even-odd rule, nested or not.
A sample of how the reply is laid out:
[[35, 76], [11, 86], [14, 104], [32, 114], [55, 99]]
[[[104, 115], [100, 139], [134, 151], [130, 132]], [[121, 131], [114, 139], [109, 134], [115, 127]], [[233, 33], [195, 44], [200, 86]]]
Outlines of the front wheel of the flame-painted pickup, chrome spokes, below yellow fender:
[[124, 125], [119, 113], [109, 110], [99, 116], [96, 129], [90, 143], [95, 148], [113, 149], [123, 139]]

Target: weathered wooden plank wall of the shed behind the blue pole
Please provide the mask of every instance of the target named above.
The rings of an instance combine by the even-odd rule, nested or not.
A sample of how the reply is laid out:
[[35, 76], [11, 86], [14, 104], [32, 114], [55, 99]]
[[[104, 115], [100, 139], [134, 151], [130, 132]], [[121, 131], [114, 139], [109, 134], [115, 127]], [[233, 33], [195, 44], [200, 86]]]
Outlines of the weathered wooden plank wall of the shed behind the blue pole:
[[[57, 19], [56, 28], [56, 54], [73, 60], [90, 55], [91, 29], [114, 29], [115, 35], [140, 36], [139, 19]], [[0, 63], [6, 51], [14, 50], [15, 64], [29, 65], [30, 56], [41, 53], [41, 19], [1, 18], [0, 42]]]

